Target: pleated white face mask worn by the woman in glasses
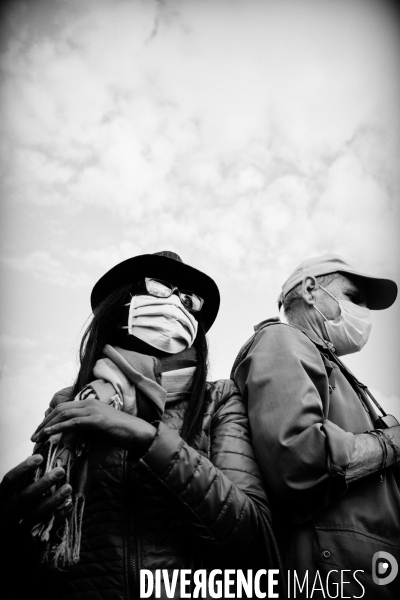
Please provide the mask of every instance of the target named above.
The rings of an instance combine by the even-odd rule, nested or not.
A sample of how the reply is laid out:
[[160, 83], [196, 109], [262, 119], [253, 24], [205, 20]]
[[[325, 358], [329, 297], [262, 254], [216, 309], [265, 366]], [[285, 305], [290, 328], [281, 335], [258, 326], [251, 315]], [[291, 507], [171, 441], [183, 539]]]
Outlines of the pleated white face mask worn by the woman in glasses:
[[128, 333], [163, 352], [177, 354], [192, 346], [198, 323], [172, 294], [169, 298], [132, 296], [129, 304]]

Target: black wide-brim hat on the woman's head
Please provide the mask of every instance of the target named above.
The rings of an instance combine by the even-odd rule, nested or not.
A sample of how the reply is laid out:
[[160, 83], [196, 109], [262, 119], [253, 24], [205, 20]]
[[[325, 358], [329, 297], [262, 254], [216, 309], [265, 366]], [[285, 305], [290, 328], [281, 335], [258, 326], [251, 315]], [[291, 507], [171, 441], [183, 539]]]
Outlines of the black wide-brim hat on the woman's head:
[[155, 254], [140, 254], [128, 258], [107, 271], [95, 284], [90, 296], [93, 311], [115, 289], [140, 281], [144, 277], [163, 279], [179, 289], [190, 290], [204, 300], [194, 317], [208, 331], [214, 323], [220, 305], [217, 284], [211, 277], [185, 264], [175, 252], [165, 250]]

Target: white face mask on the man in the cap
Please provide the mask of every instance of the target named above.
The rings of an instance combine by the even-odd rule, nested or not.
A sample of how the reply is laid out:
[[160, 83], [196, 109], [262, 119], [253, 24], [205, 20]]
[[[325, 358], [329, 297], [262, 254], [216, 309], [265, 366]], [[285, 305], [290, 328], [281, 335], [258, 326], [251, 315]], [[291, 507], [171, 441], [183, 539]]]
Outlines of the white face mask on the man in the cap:
[[319, 286], [340, 307], [340, 315], [335, 320], [329, 320], [315, 305], [315, 309], [325, 319], [325, 328], [329, 341], [335, 346], [336, 354], [343, 356], [359, 352], [364, 348], [371, 332], [371, 314], [368, 308], [358, 306], [349, 300], [338, 300], [328, 290]]

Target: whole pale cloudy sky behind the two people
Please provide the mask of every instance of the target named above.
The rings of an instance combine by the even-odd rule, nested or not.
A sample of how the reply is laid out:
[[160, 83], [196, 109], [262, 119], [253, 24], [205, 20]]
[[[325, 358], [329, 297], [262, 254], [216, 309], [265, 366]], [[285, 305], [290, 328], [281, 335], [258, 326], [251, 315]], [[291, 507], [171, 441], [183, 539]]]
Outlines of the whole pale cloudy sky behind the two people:
[[[1, 30], [1, 473], [76, 374], [97, 279], [174, 250], [218, 283], [213, 378], [303, 258], [400, 282], [385, 0], [30, 0]], [[400, 417], [399, 302], [345, 362]]]

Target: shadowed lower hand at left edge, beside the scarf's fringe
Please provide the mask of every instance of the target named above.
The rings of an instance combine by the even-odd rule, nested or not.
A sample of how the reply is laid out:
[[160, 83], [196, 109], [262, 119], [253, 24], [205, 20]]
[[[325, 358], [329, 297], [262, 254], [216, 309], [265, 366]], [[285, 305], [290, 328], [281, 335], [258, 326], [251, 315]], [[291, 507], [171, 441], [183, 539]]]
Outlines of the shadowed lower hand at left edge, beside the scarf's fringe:
[[65, 475], [64, 469], [52, 469], [30, 485], [24, 482], [33, 479], [38, 466], [43, 462], [39, 454], [30, 456], [24, 462], [11, 469], [0, 483], [0, 526], [5, 534], [23, 524], [31, 528], [37, 523], [49, 519], [53, 513], [60, 518], [68, 514], [72, 488], [65, 484], [55, 493], [51, 488]]

